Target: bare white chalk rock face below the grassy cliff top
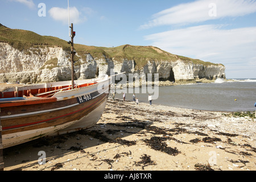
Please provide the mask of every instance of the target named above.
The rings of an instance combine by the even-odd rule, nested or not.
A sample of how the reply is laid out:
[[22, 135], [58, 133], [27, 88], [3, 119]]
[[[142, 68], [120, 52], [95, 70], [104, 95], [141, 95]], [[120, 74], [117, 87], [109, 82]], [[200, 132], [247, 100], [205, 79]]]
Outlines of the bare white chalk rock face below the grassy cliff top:
[[[159, 49], [160, 50], [160, 49]], [[115, 73], [159, 73], [159, 80], [195, 80], [197, 78], [225, 78], [225, 67], [221, 64], [204, 65], [176, 60], [148, 60], [142, 67], [136, 59], [115, 57], [93, 57], [90, 53], [77, 53], [76, 79], [88, 79]], [[0, 82], [38, 83], [71, 80], [69, 51], [61, 47], [31, 47], [20, 51], [8, 43], [0, 43]]]

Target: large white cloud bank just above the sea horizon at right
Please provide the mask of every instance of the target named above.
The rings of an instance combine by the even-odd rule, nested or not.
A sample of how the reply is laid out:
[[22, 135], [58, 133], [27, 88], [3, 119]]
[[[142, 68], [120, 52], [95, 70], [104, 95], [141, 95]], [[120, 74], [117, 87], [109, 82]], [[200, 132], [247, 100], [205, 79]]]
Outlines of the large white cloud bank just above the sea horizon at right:
[[[151, 45], [176, 55], [233, 65], [255, 72], [256, 27], [223, 30], [220, 25], [203, 25], [147, 35]], [[229, 67], [229, 68], [233, 68]], [[254, 71], [253, 71], [254, 70]]]

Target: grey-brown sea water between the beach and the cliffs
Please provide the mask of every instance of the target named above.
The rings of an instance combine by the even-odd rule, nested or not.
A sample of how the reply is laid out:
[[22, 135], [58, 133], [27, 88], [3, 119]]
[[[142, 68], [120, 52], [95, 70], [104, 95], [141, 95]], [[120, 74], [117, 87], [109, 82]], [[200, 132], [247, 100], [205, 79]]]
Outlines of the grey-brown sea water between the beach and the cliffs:
[[[148, 93], [136, 93], [139, 102], [148, 102]], [[122, 94], [115, 98], [122, 99]], [[133, 100], [133, 93], [126, 94]], [[216, 80], [214, 83], [159, 86], [159, 97], [152, 104], [209, 111], [254, 111], [255, 79]]]

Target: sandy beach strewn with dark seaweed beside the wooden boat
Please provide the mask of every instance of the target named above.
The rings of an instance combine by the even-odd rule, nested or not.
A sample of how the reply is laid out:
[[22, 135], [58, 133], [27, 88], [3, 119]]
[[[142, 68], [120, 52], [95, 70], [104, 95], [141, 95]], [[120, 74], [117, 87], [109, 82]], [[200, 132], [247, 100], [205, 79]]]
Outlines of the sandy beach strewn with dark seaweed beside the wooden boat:
[[3, 158], [5, 171], [254, 171], [255, 132], [253, 119], [230, 113], [109, 99], [91, 129], [7, 148]]

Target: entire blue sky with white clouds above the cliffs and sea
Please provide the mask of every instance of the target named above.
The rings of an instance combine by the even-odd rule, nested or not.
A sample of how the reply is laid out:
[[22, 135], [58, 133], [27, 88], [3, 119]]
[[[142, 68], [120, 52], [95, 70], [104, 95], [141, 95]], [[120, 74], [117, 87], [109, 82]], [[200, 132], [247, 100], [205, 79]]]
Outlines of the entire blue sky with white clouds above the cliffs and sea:
[[[68, 0], [0, 0], [0, 23], [69, 41]], [[155, 46], [256, 78], [256, 0], [69, 0], [75, 43]]]

